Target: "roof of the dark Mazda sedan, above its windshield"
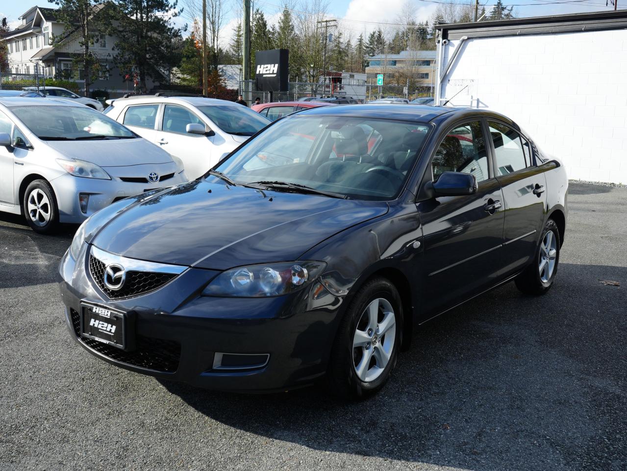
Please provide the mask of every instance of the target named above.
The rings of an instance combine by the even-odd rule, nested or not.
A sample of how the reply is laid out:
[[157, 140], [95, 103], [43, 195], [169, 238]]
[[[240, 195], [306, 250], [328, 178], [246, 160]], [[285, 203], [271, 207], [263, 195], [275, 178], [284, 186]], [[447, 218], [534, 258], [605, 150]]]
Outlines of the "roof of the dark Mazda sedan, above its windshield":
[[458, 110], [468, 108], [451, 108], [415, 105], [411, 107], [399, 107], [398, 105], [338, 105], [334, 107], [310, 108], [307, 112], [299, 112], [298, 115], [307, 116], [345, 116], [360, 118], [397, 119], [403, 121], [428, 122], [438, 116], [455, 113]]

